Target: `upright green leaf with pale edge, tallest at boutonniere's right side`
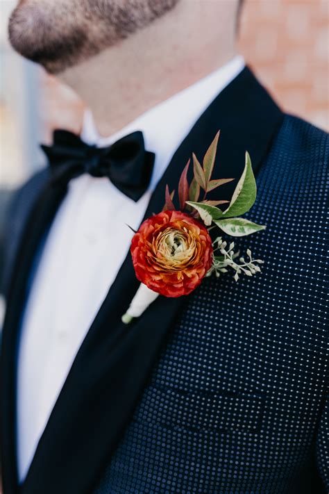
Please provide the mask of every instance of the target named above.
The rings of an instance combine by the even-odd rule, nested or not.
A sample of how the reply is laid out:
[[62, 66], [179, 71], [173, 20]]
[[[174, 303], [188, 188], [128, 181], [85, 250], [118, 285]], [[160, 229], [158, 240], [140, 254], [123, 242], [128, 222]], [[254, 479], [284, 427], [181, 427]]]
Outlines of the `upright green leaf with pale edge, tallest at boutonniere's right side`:
[[249, 211], [256, 199], [256, 182], [251, 167], [251, 159], [246, 152], [246, 165], [237, 187], [233, 193], [230, 205], [223, 212], [223, 217], [240, 216]]

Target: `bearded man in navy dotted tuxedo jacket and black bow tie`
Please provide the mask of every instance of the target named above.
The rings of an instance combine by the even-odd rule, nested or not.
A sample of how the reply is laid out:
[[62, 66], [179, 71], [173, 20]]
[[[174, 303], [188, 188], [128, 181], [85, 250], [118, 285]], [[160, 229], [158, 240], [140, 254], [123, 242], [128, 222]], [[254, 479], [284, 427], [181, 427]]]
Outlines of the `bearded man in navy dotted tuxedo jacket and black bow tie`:
[[[44, 148], [50, 167], [12, 211], [4, 494], [328, 490], [328, 138], [282, 113], [244, 67], [239, 8], [22, 0], [12, 14], [13, 47], [90, 110], [81, 140], [61, 131]], [[166, 184], [177, 188], [192, 152], [201, 159], [219, 129], [215, 178], [238, 179], [251, 154], [258, 199], [249, 217], [267, 230], [240, 246], [264, 259], [264, 272], [158, 297], [126, 326], [138, 287], [126, 224], [138, 229], [161, 211]]]

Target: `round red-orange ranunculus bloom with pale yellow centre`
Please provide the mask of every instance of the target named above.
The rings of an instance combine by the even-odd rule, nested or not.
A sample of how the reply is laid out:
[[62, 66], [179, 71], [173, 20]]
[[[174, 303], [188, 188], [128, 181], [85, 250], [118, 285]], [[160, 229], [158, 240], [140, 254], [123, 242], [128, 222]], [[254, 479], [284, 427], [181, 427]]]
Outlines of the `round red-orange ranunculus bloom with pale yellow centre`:
[[180, 211], [163, 211], [144, 221], [130, 252], [137, 279], [165, 297], [191, 293], [212, 265], [208, 230]]

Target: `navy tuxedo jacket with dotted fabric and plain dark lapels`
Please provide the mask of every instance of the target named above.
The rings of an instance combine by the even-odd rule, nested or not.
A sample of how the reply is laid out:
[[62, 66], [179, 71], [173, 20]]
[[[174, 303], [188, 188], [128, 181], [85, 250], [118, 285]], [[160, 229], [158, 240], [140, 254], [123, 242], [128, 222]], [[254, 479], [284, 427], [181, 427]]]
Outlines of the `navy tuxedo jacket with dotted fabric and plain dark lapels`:
[[[177, 118], [173, 115], [173, 118]], [[101, 306], [17, 484], [19, 318], [37, 247], [65, 190], [49, 171], [19, 192], [10, 221], [1, 356], [4, 494], [310, 494], [329, 490], [326, 174], [328, 136], [285, 115], [246, 68], [194, 125], [158, 184], [159, 212], [192, 151], [221, 129], [214, 177], [251, 154], [258, 198], [242, 238], [258, 277], [208, 278], [158, 297], [126, 327], [137, 290], [130, 255]], [[230, 199], [235, 183], [223, 186]], [[60, 273], [58, 274], [60, 282]], [[47, 330], [47, 329], [45, 329]]]

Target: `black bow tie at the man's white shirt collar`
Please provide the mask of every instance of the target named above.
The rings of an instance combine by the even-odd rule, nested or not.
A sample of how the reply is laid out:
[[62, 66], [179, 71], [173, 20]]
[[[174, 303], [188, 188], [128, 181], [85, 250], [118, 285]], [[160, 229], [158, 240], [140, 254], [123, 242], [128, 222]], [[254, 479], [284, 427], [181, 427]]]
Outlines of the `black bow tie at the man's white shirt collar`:
[[141, 131], [117, 140], [109, 147], [87, 145], [78, 135], [56, 130], [53, 145], [41, 146], [53, 168], [53, 180], [67, 183], [83, 173], [108, 176], [130, 199], [144, 194], [153, 171], [154, 153], [144, 148]]

